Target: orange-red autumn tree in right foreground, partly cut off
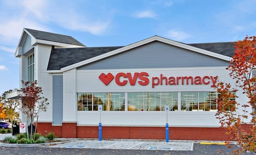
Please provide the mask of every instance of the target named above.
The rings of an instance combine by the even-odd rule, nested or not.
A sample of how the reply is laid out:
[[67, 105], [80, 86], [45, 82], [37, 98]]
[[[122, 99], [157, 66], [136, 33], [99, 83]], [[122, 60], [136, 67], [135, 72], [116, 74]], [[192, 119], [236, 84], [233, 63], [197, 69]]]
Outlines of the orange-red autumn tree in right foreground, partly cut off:
[[[233, 59], [227, 70], [230, 71], [230, 77], [236, 80], [236, 86], [243, 90], [248, 101], [237, 103], [230, 98], [238, 98], [234, 92], [237, 89], [232, 88], [230, 83], [219, 82], [216, 84], [218, 95], [217, 118], [221, 126], [227, 128], [227, 135], [230, 140], [237, 141], [239, 149], [235, 149], [235, 154], [256, 152], [256, 75], [253, 74], [256, 68], [256, 37], [245, 37], [239, 40], [235, 46]], [[238, 106], [244, 108], [238, 112]], [[252, 108], [252, 112], [247, 109]], [[249, 117], [250, 116], [250, 117]], [[246, 124], [244, 119], [250, 118], [249, 129], [243, 128]], [[226, 142], [228, 145], [229, 143]]]

